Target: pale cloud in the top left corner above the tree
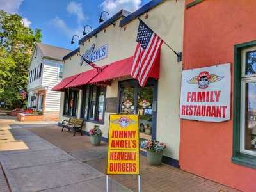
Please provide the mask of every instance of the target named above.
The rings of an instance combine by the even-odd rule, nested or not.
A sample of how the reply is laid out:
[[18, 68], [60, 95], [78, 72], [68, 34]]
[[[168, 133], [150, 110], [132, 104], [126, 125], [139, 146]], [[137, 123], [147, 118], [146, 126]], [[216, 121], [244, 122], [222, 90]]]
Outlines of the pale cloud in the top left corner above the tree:
[[8, 13], [17, 13], [23, 0], [0, 0], [0, 10]]

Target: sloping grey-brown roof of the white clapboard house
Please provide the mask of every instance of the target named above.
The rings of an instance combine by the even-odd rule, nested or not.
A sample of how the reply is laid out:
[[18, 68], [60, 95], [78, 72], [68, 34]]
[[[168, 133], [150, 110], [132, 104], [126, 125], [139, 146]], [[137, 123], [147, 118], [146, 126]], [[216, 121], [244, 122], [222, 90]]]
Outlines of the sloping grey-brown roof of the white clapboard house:
[[52, 60], [62, 61], [63, 57], [71, 52], [70, 49], [64, 49], [42, 43], [36, 43], [36, 47], [42, 51], [43, 58], [50, 58]]

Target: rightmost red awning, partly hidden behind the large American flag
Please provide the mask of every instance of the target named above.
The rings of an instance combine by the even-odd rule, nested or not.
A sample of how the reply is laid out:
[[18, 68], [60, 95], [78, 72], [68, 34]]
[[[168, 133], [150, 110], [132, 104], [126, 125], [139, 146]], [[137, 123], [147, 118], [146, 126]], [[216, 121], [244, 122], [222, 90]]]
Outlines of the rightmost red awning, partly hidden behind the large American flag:
[[[120, 77], [131, 77], [133, 56], [124, 60], [115, 61], [104, 68], [97, 76], [95, 76], [90, 83], [92, 84], [109, 84], [112, 79]], [[154, 68], [150, 74], [150, 77], [154, 79], [159, 78], [159, 60], [154, 65]]]

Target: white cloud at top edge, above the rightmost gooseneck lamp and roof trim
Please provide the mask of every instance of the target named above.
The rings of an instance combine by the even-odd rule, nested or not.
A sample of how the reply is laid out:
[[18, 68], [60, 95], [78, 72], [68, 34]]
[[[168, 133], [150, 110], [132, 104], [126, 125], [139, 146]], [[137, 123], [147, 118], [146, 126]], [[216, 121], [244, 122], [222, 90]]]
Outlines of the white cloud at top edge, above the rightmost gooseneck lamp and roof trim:
[[104, 0], [100, 6], [103, 10], [110, 14], [110, 17], [115, 13], [124, 9], [130, 12], [134, 12], [140, 8], [141, 0]]

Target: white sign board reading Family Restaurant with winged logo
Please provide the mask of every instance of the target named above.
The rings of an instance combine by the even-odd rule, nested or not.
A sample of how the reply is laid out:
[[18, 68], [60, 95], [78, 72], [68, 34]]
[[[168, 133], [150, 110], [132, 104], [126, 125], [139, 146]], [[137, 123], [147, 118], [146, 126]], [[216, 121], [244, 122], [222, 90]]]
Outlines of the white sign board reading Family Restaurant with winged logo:
[[205, 122], [230, 120], [230, 63], [182, 72], [180, 118]]

